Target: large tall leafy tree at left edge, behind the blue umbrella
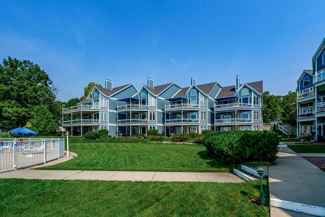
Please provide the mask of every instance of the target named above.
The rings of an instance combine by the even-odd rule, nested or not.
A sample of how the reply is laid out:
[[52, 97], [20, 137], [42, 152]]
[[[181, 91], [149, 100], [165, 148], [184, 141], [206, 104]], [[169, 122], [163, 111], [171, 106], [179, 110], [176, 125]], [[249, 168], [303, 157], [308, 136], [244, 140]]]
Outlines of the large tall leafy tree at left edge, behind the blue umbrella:
[[0, 64], [0, 127], [24, 126], [36, 106], [55, 104], [56, 93], [48, 74], [37, 64], [4, 59]]

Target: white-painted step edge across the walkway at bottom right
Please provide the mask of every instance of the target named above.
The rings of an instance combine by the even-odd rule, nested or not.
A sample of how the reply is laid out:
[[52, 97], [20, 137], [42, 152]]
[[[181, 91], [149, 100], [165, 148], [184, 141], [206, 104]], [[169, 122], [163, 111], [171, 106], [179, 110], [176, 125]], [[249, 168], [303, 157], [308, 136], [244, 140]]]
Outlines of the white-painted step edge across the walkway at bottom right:
[[305, 214], [316, 215], [316, 216], [325, 216], [325, 208], [319, 206], [312, 206], [303, 203], [296, 203], [286, 200], [279, 200], [275, 198], [270, 198], [270, 206], [292, 210], [296, 212], [302, 212]]

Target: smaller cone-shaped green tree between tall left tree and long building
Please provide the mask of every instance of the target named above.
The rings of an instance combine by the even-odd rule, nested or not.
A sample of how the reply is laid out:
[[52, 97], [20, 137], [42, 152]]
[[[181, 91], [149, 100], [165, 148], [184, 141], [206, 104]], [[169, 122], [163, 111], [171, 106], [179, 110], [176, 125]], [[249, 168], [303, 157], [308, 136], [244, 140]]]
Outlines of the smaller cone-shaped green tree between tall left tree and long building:
[[58, 122], [55, 122], [53, 114], [51, 114], [47, 105], [36, 106], [32, 112], [30, 119], [32, 126], [36, 127], [40, 133], [47, 132], [55, 134], [59, 128]]

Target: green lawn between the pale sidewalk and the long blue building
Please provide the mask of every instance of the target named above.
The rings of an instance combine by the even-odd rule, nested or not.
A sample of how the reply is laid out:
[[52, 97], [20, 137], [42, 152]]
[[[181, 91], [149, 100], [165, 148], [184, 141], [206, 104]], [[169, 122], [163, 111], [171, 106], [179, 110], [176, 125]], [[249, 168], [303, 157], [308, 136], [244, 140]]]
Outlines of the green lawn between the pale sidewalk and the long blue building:
[[152, 143], [72, 143], [78, 154], [67, 162], [42, 167], [53, 170], [232, 172], [218, 164], [203, 145]]

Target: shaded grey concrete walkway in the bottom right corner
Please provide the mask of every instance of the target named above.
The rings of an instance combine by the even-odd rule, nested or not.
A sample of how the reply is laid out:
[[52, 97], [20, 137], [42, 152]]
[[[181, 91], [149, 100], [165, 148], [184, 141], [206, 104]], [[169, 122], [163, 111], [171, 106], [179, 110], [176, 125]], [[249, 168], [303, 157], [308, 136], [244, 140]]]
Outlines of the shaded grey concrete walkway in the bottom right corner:
[[[293, 150], [282, 147], [275, 165], [269, 167], [270, 204], [320, 210], [325, 214], [325, 172], [305, 160]], [[287, 203], [286, 201], [289, 201]], [[294, 203], [290, 203], [294, 202]], [[306, 204], [307, 206], [300, 206]], [[300, 208], [299, 208], [300, 207]], [[292, 212], [271, 206], [271, 216], [291, 216]], [[294, 216], [300, 216], [296, 213]], [[321, 214], [323, 216], [323, 214]]]

